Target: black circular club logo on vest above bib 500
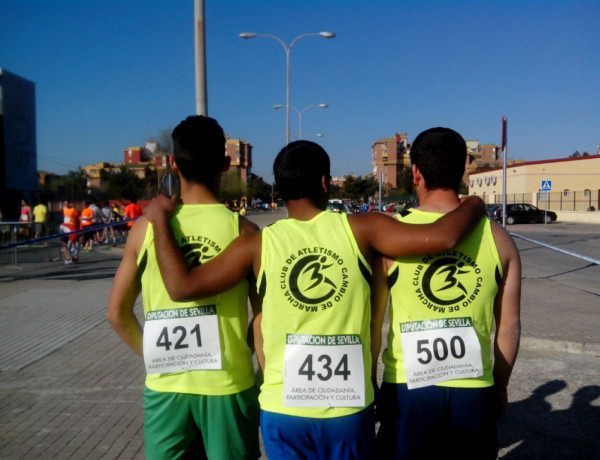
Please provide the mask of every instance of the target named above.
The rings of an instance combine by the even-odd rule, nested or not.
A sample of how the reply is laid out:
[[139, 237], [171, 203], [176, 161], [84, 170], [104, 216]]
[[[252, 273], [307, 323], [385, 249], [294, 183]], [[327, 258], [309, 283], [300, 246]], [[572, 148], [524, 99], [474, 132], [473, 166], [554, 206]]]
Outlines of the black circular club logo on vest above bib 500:
[[419, 300], [427, 308], [441, 312], [469, 306], [479, 295], [482, 281], [481, 269], [464, 254], [426, 257], [413, 276]]

